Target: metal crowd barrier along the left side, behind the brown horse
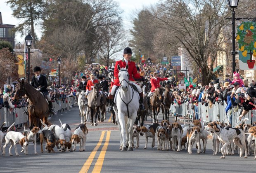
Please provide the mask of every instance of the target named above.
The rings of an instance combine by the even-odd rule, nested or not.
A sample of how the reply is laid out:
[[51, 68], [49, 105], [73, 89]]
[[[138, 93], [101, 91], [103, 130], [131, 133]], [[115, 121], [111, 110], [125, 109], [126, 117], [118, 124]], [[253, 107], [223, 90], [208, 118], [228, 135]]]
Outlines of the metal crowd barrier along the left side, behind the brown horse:
[[[75, 99], [73, 96], [68, 97], [64, 99], [64, 102], [61, 100], [57, 100], [52, 103], [54, 110], [56, 113], [63, 112], [65, 110], [69, 110], [69, 108], [74, 105]], [[25, 115], [23, 113], [25, 108], [14, 108], [12, 111], [10, 111], [7, 108], [0, 109], [0, 126], [3, 122], [7, 122], [5, 126], [10, 126], [12, 123], [15, 122], [15, 124], [24, 124], [28, 122], [28, 115]], [[50, 115], [51, 117], [52, 115]]]

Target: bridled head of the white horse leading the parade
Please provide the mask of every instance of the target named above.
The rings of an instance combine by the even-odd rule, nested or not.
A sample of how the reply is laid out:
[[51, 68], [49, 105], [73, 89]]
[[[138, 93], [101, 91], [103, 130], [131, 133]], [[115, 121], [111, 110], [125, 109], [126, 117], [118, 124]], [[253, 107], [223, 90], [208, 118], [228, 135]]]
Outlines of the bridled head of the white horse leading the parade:
[[121, 89], [123, 91], [128, 91], [128, 86], [130, 84], [129, 82], [129, 73], [128, 73], [128, 65], [126, 65], [126, 68], [120, 68], [119, 65], [117, 65], [117, 68], [119, 70], [118, 77], [119, 77], [119, 83], [121, 86]]

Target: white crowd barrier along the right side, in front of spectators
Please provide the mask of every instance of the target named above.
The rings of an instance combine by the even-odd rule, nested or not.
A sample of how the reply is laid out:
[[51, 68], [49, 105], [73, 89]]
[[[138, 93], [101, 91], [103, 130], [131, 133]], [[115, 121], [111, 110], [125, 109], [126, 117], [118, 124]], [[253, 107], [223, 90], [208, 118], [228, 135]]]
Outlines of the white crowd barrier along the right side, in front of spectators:
[[[183, 103], [183, 104], [173, 104], [171, 105], [170, 111], [173, 115], [178, 115], [178, 117], [186, 117], [193, 119], [193, 112], [194, 110], [191, 108], [191, 103]], [[213, 104], [212, 108], [209, 106], [202, 105], [199, 103], [198, 105], [198, 117], [201, 119], [204, 124], [207, 124], [209, 122], [213, 121], [220, 121], [225, 122], [229, 124], [230, 116], [232, 116], [232, 127], [237, 126], [240, 124], [239, 121], [239, 112], [240, 109], [236, 110], [235, 108], [232, 108], [228, 111], [227, 115], [225, 114], [225, 108], [227, 107], [227, 103], [224, 102], [223, 105], [220, 105], [219, 103]], [[244, 118], [249, 119], [249, 124], [256, 122], [256, 110], [250, 110], [247, 115], [244, 116]]]

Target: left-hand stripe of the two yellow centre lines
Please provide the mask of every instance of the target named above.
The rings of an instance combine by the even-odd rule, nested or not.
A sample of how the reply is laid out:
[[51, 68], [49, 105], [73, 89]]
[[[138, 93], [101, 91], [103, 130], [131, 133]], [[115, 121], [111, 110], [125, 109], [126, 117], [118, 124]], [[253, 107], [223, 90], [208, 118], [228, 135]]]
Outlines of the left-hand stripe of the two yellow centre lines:
[[87, 173], [91, 164], [92, 164], [92, 161], [95, 157], [95, 154], [97, 152], [97, 150], [100, 148], [100, 145], [102, 143], [102, 140], [104, 138], [104, 135], [105, 135], [106, 131], [102, 131], [101, 132], [101, 135], [100, 135], [100, 140], [99, 142], [97, 143], [96, 147], [92, 150], [92, 153], [90, 154], [90, 156], [88, 157], [88, 159], [86, 160], [85, 164], [83, 164], [83, 167], [81, 168], [80, 172], [79, 173]]

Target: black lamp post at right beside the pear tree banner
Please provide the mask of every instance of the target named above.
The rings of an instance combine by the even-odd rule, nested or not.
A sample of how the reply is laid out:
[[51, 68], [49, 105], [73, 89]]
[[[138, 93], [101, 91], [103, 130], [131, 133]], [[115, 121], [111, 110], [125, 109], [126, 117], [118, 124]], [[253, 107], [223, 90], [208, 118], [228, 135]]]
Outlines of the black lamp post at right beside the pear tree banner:
[[230, 10], [232, 10], [232, 73], [235, 72], [235, 11], [237, 10], [239, 0], [228, 0]]

